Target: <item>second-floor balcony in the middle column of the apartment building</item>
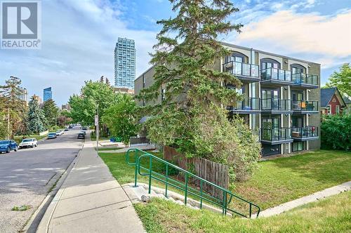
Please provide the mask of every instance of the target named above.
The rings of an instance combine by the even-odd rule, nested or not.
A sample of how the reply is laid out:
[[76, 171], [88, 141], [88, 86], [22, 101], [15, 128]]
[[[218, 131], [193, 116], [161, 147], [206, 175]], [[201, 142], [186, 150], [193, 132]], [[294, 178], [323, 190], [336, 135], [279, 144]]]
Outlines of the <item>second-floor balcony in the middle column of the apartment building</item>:
[[261, 99], [261, 111], [270, 114], [292, 113], [291, 100], [279, 98]]

